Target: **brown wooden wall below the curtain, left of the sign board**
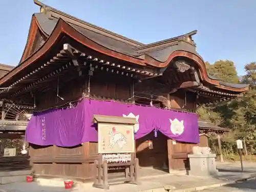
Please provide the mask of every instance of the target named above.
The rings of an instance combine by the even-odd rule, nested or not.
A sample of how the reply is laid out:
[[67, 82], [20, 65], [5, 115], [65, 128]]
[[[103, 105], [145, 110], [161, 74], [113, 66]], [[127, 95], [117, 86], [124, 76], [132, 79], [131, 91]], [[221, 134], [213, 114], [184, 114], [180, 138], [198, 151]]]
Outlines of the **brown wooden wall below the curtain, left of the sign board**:
[[31, 163], [35, 175], [92, 179], [93, 162], [98, 157], [97, 143], [74, 147], [30, 145]]

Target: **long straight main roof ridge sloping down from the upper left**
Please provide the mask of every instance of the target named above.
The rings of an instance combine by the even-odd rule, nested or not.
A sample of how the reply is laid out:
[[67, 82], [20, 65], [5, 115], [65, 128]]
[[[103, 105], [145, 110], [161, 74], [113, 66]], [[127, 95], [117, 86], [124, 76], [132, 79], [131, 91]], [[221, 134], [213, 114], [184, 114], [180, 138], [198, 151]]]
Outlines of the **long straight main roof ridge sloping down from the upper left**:
[[[139, 41], [136, 41], [136, 40], [127, 38], [127, 37], [125, 37], [125, 36], [122, 36], [122, 35], [119, 35], [119, 34], [117, 34], [117, 33], [114, 33], [114, 32], [112, 32], [112, 31], [110, 31], [110, 30], [106, 30], [106, 29], [104, 29], [104, 28], [98, 27], [98, 26], [93, 25], [93, 24], [91, 24], [91, 23], [89, 23], [89, 22], [86, 22], [86, 21], [84, 21], [84, 20], [81, 20], [81, 19], [79, 19], [79, 18], [77, 18], [77, 17], [75, 17], [75, 16], [72, 16], [72, 15], [70, 15], [70, 14], [67, 14], [67, 13], [65, 13], [65, 12], [59, 11], [59, 10], [53, 8], [53, 7], [50, 7], [50, 6], [48, 6], [48, 5], [45, 5], [45, 4], [41, 3], [41, 2], [39, 2], [38, 0], [34, 0], [34, 4], [40, 6], [40, 12], [46, 11], [48, 14], [50, 14], [50, 15], [48, 15], [48, 16], [49, 16], [49, 19], [51, 19], [52, 17], [54, 17], [54, 15], [52, 15], [50, 12], [54, 12], [56, 15], [60, 15], [60, 16], [66, 17], [66, 18], [68, 18], [68, 19], [73, 20], [74, 22], [79, 23], [80, 25], [84, 25], [84, 26], [79, 26], [79, 27], [83, 27], [83, 28], [84, 28], [85, 26], [88, 26], [88, 30], [94, 29], [94, 30], [96, 30], [95, 32], [97, 32], [97, 33], [100, 33], [100, 34], [105, 35], [105, 36], [110, 36], [110, 37], [112, 37], [112, 38], [113, 38], [113, 37], [116, 37], [115, 39], [120, 40], [120, 41], [123, 41], [123, 42], [125, 42], [126, 44], [133, 45], [133, 46], [135, 46], [135, 47], [140, 47], [140, 46], [144, 46], [144, 45], [145, 45], [145, 44], [143, 44], [142, 42], [139, 42]], [[58, 17], [58, 18], [59, 18], [59, 17]], [[64, 19], [64, 20], [65, 20], [65, 19]], [[68, 23], [71, 23], [71, 22], [68, 22]], [[74, 23], [73, 23], [73, 24], [74, 24]], [[74, 25], [77, 25], [77, 24], [74, 24]], [[91, 29], [90, 29], [90, 28], [91, 28]]]

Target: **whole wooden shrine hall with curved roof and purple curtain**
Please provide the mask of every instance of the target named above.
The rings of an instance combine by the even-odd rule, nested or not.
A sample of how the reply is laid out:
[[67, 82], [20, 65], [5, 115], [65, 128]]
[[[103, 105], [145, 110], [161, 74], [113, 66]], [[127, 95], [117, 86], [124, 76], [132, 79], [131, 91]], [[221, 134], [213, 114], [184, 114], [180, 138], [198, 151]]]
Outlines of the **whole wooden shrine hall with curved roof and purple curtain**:
[[[136, 118], [140, 125], [135, 133], [139, 166], [171, 172], [189, 168], [187, 154], [200, 144], [197, 104], [241, 97], [248, 90], [247, 84], [223, 82], [207, 74], [192, 38], [197, 31], [145, 45], [39, 1], [34, 3], [40, 11], [32, 15], [22, 59], [0, 79], [1, 99], [31, 106], [38, 112], [32, 116], [31, 123], [46, 111], [49, 113], [44, 118], [53, 118], [50, 109], [53, 113], [58, 113], [57, 109], [66, 113], [69, 108], [72, 111], [83, 106], [88, 109], [85, 114], [90, 112], [88, 117], [120, 114]], [[101, 114], [93, 111], [96, 105]], [[107, 106], [115, 106], [116, 111], [105, 110]], [[129, 109], [135, 111], [129, 114]], [[140, 114], [135, 114], [139, 111]], [[150, 122], [143, 120], [144, 112], [151, 115]], [[163, 115], [158, 117], [158, 114]], [[60, 118], [58, 123], [67, 126], [63, 122], [71, 116], [65, 116], [65, 121]], [[178, 116], [196, 123], [190, 126]], [[169, 119], [165, 121], [164, 117]], [[174, 123], [180, 123], [184, 129], [174, 131]], [[96, 132], [89, 126], [90, 130], [86, 129], [92, 136], [87, 137], [87, 131], [81, 132], [79, 143], [73, 134], [72, 145], [71, 139], [64, 139], [64, 134], [57, 135], [58, 143], [54, 143], [56, 139], [47, 140], [45, 127], [38, 128], [34, 138], [30, 138], [32, 129], [28, 125], [26, 134], [34, 173], [92, 179], [93, 162], [99, 156], [98, 143], [94, 140]], [[70, 129], [78, 129], [74, 127]], [[147, 129], [146, 135], [142, 129]], [[184, 134], [190, 136], [183, 139]], [[64, 140], [69, 144], [63, 143]]]

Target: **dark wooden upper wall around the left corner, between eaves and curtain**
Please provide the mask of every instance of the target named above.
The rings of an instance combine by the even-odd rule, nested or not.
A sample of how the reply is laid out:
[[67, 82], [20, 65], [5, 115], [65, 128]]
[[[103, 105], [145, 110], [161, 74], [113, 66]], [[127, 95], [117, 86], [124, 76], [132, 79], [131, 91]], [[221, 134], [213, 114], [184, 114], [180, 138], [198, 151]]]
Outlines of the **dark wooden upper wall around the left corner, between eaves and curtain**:
[[[88, 74], [88, 71], [84, 71], [83, 74]], [[89, 76], [78, 76], [77, 71], [71, 75], [73, 78], [60, 77], [59, 80], [59, 96], [64, 100], [57, 97], [57, 81], [51, 82], [53, 89], [46, 89], [40, 95], [36, 95], [36, 111], [78, 100], [83, 93], [88, 93]], [[70, 80], [65, 82], [65, 79], [68, 78]], [[97, 96], [101, 99], [127, 100], [132, 97], [132, 86], [133, 79], [114, 73], [105, 73], [101, 70], [90, 77], [90, 94], [92, 97]]]

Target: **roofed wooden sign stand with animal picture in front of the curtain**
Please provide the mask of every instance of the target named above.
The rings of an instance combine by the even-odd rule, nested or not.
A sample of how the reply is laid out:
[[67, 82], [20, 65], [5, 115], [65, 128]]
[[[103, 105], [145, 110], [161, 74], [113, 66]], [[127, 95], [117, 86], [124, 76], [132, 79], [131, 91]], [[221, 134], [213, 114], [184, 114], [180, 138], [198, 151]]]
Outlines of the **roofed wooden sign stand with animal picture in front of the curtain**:
[[[94, 161], [94, 168], [95, 168], [95, 178], [93, 187], [97, 188], [104, 188], [109, 189], [109, 182], [108, 182], [108, 169], [111, 167], [124, 167], [125, 178], [124, 183], [131, 183], [131, 184], [139, 184], [138, 182], [138, 171], [139, 171], [139, 159], [135, 157], [135, 140], [134, 140], [134, 129], [133, 126], [137, 123], [135, 118], [127, 118], [127, 117], [115, 117], [115, 116], [101, 116], [101, 115], [94, 115], [93, 123], [98, 124], [98, 149], [99, 149], [99, 159]], [[103, 126], [101, 126], [103, 125]], [[130, 137], [130, 146], [128, 150], [123, 150], [123, 148], [117, 148], [112, 151], [108, 151], [103, 149], [103, 140], [102, 140], [102, 129], [104, 126], [118, 126], [120, 132], [119, 138], [113, 139], [115, 142], [120, 141], [121, 143], [124, 142], [122, 139], [124, 135], [122, 130], [130, 127], [128, 130], [132, 131]], [[104, 133], [104, 132], [103, 132]], [[105, 134], [105, 133], [104, 133]], [[113, 135], [110, 135], [112, 138]], [[118, 140], [119, 139], [119, 140]], [[125, 138], [127, 139], [127, 138]], [[127, 141], [129, 142], [129, 141]], [[113, 144], [113, 142], [109, 142], [109, 144]], [[110, 159], [108, 161], [107, 155], [114, 156], [113, 160]], [[114, 161], [114, 162], [113, 162]], [[116, 162], [115, 162], [116, 161]]]

